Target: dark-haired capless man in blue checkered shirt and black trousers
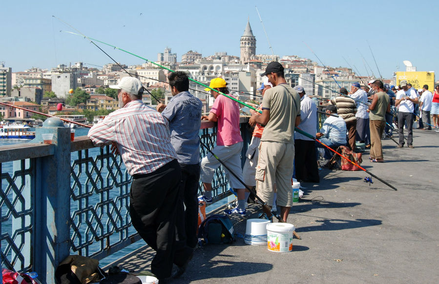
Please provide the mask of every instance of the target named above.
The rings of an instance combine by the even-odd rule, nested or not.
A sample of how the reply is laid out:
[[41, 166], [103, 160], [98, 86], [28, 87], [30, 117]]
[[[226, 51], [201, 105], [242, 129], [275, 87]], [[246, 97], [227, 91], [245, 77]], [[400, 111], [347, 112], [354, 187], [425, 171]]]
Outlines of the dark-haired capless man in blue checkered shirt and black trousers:
[[[186, 73], [181, 71], [170, 73], [168, 80], [173, 97], [167, 105], [158, 104], [157, 111], [169, 120], [171, 144], [177, 152], [177, 160], [182, 172], [176, 218], [177, 250], [174, 258], [178, 259], [180, 258], [179, 251], [186, 254], [187, 248], [193, 251], [198, 243], [196, 232], [198, 226], [197, 192], [200, 180], [199, 132], [203, 104], [189, 93], [189, 79]], [[185, 248], [182, 249], [183, 247]], [[179, 265], [177, 271], [179, 275], [173, 276], [176, 278], [183, 274], [186, 265]]]

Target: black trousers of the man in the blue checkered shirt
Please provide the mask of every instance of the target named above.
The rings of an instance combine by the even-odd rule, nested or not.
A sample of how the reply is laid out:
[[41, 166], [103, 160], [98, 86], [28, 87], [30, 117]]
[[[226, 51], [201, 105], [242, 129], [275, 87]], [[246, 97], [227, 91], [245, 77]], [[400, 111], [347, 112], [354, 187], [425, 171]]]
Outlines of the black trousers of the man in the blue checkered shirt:
[[[194, 248], [198, 243], [198, 187], [200, 180], [200, 164], [180, 164], [182, 178], [178, 198], [178, 214], [176, 220], [177, 254], [181, 248]], [[185, 209], [186, 207], [186, 209]], [[187, 249], [185, 249], [186, 251]], [[176, 257], [178, 259], [180, 257]], [[185, 256], [182, 257], [183, 259]], [[179, 265], [178, 263], [176, 263]]]

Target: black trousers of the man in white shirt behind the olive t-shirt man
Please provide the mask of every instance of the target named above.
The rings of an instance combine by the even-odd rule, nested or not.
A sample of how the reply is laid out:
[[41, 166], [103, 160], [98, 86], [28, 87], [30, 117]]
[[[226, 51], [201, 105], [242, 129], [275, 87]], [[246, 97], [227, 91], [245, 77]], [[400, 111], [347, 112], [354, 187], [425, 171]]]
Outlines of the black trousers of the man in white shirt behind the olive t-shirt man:
[[320, 182], [314, 140], [294, 140], [294, 169], [297, 180], [312, 183]]

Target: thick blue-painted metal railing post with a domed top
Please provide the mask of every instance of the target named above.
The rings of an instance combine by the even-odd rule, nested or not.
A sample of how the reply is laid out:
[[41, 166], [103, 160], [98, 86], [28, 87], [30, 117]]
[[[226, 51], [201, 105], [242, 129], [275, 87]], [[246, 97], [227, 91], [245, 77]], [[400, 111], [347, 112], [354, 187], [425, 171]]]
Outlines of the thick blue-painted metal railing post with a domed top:
[[36, 129], [54, 133], [54, 154], [36, 158], [35, 271], [42, 283], [54, 284], [57, 265], [69, 255], [70, 128], [59, 118], [48, 118]]

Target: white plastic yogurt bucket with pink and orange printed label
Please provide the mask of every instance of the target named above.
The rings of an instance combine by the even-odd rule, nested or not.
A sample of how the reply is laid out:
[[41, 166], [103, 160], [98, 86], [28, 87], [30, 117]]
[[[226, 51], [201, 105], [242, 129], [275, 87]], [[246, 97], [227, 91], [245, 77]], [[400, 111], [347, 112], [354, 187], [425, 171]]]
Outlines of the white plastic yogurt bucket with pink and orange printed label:
[[270, 251], [288, 252], [293, 250], [294, 225], [288, 223], [267, 224], [267, 248]]

